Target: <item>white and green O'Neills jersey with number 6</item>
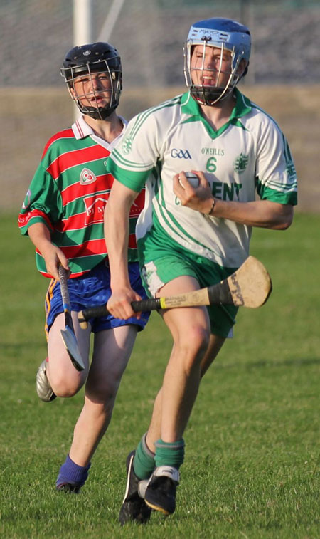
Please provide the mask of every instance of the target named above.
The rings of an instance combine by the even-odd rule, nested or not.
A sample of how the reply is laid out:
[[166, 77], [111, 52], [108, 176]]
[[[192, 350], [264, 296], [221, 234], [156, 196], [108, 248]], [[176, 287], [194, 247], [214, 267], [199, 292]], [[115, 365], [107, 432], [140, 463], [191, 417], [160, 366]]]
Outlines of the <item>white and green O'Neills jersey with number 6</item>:
[[[235, 90], [235, 108], [215, 131], [190, 93], [135, 116], [107, 160], [108, 171], [139, 192], [146, 203], [137, 222], [138, 247], [172, 245], [225, 268], [247, 258], [251, 227], [208, 217], [181, 206], [173, 177], [202, 170], [213, 196], [239, 202], [261, 199], [297, 204], [297, 177], [289, 146], [277, 123]], [[152, 240], [151, 240], [152, 239]]]

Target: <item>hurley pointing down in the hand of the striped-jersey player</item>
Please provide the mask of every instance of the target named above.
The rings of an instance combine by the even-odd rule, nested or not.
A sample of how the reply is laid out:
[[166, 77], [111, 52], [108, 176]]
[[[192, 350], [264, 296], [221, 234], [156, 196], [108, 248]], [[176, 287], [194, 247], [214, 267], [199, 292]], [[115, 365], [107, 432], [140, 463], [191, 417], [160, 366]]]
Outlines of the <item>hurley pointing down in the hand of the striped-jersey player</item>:
[[61, 336], [63, 337], [63, 342], [70, 356], [70, 360], [73, 362], [74, 367], [80, 371], [84, 370], [85, 365], [80, 354], [77, 338], [75, 337], [75, 329], [73, 328], [73, 319], [71, 318], [71, 306], [68, 291], [68, 271], [60, 265], [58, 268], [58, 273], [61, 295], [63, 299], [63, 311], [65, 313], [65, 329], [61, 330]]

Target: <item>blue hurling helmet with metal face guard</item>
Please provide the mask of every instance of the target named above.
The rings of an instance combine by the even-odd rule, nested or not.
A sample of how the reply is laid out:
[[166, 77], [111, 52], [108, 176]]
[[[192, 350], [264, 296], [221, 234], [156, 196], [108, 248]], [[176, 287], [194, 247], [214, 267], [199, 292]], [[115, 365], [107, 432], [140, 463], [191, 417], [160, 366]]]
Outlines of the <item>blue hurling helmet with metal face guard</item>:
[[[203, 73], [203, 62], [206, 53], [206, 47], [220, 48], [220, 65], [212, 70], [215, 73], [216, 83], [215, 85], [196, 85], [193, 83], [191, 74], [191, 56], [193, 53], [193, 46], [203, 46], [203, 59], [202, 66], [197, 68], [198, 72]], [[223, 59], [223, 52], [230, 51], [231, 62], [228, 73], [223, 72], [221, 69], [221, 62]], [[184, 76], [186, 78], [186, 85], [190, 88], [193, 98], [202, 105], [214, 105], [219, 100], [225, 98], [230, 92], [233, 91], [235, 85], [239, 82], [240, 78], [247, 73], [247, 66], [249, 65], [251, 51], [251, 37], [250, 31], [243, 24], [233, 21], [231, 19], [215, 18], [206, 19], [205, 21], [198, 21], [191, 26], [188, 33], [188, 38], [183, 47], [184, 56]], [[247, 66], [243, 73], [238, 73], [238, 67], [240, 62], [245, 60]], [[221, 74], [229, 75], [227, 83], [219, 85], [219, 79]]]

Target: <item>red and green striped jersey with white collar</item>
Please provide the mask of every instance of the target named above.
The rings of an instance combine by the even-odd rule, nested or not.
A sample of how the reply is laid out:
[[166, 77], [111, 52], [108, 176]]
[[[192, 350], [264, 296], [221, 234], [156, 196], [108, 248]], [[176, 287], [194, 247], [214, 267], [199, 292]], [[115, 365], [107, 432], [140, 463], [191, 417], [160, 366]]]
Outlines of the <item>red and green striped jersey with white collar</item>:
[[[122, 133], [109, 144], [80, 117], [50, 138], [26, 193], [18, 218], [21, 234], [27, 235], [31, 224], [46, 224], [51, 241], [69, 260], [71, 277], [90, 271], [107, 256], [104, 211], [114, 178], [106, 172], [106, 162]], [[130, 211], [129, 262], [137, 261], [135, 226], [143, 207], [144, 191]], [[36, 265], [51, 277], [38, 250]]]

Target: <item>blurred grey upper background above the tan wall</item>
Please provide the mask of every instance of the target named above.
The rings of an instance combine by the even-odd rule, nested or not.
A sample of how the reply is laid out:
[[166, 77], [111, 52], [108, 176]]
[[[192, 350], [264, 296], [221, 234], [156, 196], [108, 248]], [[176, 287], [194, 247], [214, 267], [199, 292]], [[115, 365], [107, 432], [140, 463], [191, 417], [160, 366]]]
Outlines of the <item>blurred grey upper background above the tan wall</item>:
[[[112, 0], [92, 0], [93, 41]], [[252, 31], [250, 83], [320, 81], [319, 0], [124, 0], [110, 41], [122, 56], [124, 84], [180, 85], [182, 45], [194, 21], [227, 16]], [[60, 85], [73, 46], [72, 0], [1, 0], [0, 86]]]

